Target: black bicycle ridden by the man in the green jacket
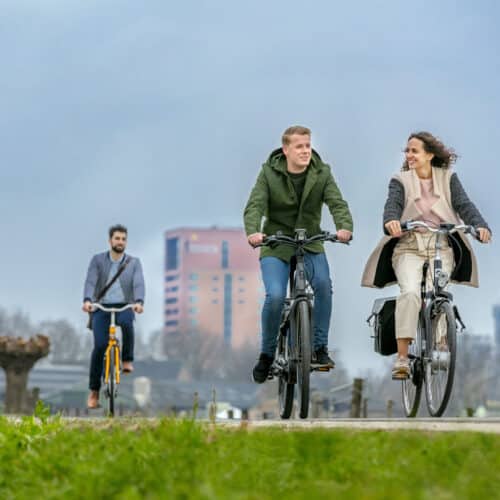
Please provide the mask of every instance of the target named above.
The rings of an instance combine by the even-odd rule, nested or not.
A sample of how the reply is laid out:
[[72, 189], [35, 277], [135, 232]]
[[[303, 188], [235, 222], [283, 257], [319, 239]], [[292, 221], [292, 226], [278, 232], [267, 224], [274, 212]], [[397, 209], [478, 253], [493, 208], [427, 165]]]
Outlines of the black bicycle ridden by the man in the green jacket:
[[304, 255], [306, 245], [315, 241], [341, 243], [335, 234], [326, 231], [308, 238], [305, 229], [296, 229], [293, 238], [278, 232], [266, 237], [261, 245], [257, 245], [288, 245], [295, 249], [295, 262], [290, 266], [289, 294], [285, 298], [281, 313], [276, 355], [269, 374], [269, 379], [278, 377], [278, 400], [282, 419], [290, 418], [292, 413], [295, 385], [298, 386], [299, 416], [307, 418], [310, 373], [313, 370], [330, 371], [327, 365], [311, 363], [314, 295], [307, 282]]

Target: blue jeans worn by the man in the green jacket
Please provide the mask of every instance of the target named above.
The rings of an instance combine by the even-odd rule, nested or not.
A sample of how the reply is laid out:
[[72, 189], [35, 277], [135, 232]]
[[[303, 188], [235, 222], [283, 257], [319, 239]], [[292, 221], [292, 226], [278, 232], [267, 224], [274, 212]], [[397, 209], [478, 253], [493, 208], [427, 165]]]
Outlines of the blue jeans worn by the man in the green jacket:
[[[314, 290], [314, 349], [328, 346], [328, 330], [332, 315], [332, 281], [324, 253], [307, 252], [304, 256], [307, 280]], [[276, 351], [281, 311], [285, 303], [290, 264], [277, 257], [260, 260], [266, 299], [262, 308], [262, 349], [274, 357]]]

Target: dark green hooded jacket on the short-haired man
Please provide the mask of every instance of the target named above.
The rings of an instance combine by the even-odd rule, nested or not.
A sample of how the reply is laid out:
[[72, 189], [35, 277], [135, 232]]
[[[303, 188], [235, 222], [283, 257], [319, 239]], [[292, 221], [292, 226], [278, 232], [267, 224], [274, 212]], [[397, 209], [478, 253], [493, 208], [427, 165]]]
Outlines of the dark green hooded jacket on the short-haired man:
[[[273, 151], [262, 165], [255, 186], [245, 206], [244, 221], [247, 236], [263, 232], [266, 235], [282, 231], [293, 236], [295, 229], [306, 229], [309, 236], [321, 232], [321, 209], [325, 203], [333, 216], [337, 231], [353, 230], [351, 212], [333, 178], [330, 166], [323, 163], [312, 151], [307, 167], [307, 177], [302, 199], [297, 199], [288, 175], [286, 157], [281, 148]], [[265, 217], [261, 229], [262, 217]], [[324, 252], [323, 243], [315, 242], [306, 247], [310, 252]], [[260, 257], [278, 257], [289, 262], [294, 254], [291, 247], [262, 247]]]

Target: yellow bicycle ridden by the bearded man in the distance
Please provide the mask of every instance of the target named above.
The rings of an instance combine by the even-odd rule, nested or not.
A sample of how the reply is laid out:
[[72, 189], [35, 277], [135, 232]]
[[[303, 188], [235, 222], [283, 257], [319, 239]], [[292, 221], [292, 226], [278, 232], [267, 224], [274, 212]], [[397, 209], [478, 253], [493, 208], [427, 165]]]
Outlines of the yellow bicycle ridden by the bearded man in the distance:
[[111, 313], [109, 323], [109, 339], [106, 351], [104, 353], [103, 383], [105, 386], [104, 395], [108, 398], [108, 413], [111, 417], [115, 415], [115, 399], [118, 396], [118, 385], [120, 384], [121, 374], [121, 353], [120, 341], [116, 336], [115, 314], [132, 309], [134, 304], [127, 304], [123, 307], [105, 307], [97, 302], [92, 304], [92, 309], [100, 309]]

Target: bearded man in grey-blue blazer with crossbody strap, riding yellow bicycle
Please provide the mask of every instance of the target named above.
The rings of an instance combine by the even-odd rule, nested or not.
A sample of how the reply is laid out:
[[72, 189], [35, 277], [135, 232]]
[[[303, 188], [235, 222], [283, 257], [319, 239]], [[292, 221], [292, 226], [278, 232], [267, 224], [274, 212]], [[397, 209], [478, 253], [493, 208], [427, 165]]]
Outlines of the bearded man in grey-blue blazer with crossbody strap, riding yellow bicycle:
[[[103, 306], [122, 307], [134, 304], [133, 311], [127, 309], [116, 314], [116, 324], [122, 329], [122, 367], [124, 373], [131, 373], [134, 369], [134, 318], [135, 313], [144, 310], [144, 277], [141, 261], [137, 257], [125, 254], [127, 247], [127, 228], [115, 225], [109, 228], [109, 246], [107, 252], [92, 257], [87, 271], [87, 279], [83, 292], [83, 307], [85, 312], [92, 311], [92, 302], [95, 302], [100, 292], [113, 279], [121, 266], [125, 268], [118, 279], [99, 300]], [[104, 353], [108, 345], [108, 332], [111, 314], [96, 310], [92, 313], [92, 332], [94, 334], [94, 349], [90, 358], [89, 389], [87, 400], [88, 408], [99, 406], [99, 390], [101, 388]]]

